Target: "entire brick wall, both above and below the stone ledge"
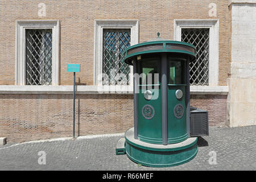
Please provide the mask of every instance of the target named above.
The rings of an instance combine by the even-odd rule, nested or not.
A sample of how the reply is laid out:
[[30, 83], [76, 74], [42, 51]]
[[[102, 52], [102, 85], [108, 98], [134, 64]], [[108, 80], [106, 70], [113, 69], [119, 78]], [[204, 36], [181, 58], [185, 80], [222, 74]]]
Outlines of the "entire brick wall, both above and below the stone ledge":
[[[46, 16], [38, 16], [38, 4]], [[209, 16], [216, 3], [217, 17]], [[60, 85], [72, 85], [69, 64], [81, 64], [80, 85], [93, 85], [94, 20], [138, 19], [139, 43], [156, 33], [173, 39], [174, 19], [219, 19], [219, 85], [226, 85], [229, 65], [227, 0], [205, 1], [0, 1], [0, 85], [15, 83], [15, 20], [60, 20]], [[0, 94], [0, 135], [7, 142], [72, 135], [72, 95]], [[191, 96], [191, 105], [209, 111], [210, 125], [224, 125], [226, 96]], [[78, 95], [76, 135], [119, 133], [133, 126], [132, 95]], [[1, 137], [1, 136], [0, 136]]]

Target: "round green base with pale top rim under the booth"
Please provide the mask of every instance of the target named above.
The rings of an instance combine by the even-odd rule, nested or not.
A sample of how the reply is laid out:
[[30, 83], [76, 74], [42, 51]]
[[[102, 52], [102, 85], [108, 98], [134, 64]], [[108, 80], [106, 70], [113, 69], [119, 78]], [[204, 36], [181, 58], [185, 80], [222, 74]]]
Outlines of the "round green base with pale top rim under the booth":
[[133, 162], [148, 167], [171, 167], [189, 162], [197, 154], [197, 138], [175, 144], [151, 144], [134, 139], [134, 128], [125, 133], [126, 155]]

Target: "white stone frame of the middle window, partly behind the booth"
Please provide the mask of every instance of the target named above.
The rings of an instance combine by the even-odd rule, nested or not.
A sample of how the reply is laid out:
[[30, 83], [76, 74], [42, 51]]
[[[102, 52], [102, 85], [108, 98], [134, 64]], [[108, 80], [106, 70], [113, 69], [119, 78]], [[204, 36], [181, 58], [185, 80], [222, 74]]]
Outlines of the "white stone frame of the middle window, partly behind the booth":
[[[93, 61], [93, 85], [102, 85], [102, 48], [103, 48], [103, 29], [125, 29], [131, 30], [131, 43], [139, 43], [139, 20], [138, 19], [96, 19], [94, 20], [94, 61]], [[133, 89], [133, 68], [130, 66], [130, 84]], [[104, 85], [113, 87], [115, 85]]]

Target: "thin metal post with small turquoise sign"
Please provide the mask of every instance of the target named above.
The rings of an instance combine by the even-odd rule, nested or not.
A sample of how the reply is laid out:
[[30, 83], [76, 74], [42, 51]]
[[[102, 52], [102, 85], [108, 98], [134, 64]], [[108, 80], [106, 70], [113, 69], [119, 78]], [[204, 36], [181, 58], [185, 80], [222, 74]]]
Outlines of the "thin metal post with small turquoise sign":
[[80, 64], [68, 64], [67, 71], [74, 73], [74, 80], [73, 80], [73, 138], [75, 138], [76, 72], [80, 72]]

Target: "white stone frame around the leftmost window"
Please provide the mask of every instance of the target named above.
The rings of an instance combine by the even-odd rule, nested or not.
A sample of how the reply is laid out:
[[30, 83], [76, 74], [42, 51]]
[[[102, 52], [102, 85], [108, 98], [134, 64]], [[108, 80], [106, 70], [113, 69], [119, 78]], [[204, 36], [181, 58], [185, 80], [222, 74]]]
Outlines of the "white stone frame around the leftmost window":
[[59, 85], [59, 24], [59, 20], [16, 20], [15, 85], [26, 85], [26, 29], [52, 29], [52, 86]]

